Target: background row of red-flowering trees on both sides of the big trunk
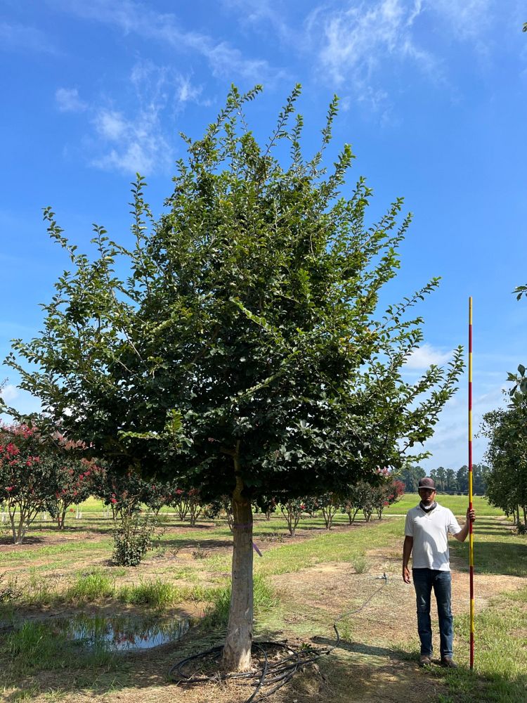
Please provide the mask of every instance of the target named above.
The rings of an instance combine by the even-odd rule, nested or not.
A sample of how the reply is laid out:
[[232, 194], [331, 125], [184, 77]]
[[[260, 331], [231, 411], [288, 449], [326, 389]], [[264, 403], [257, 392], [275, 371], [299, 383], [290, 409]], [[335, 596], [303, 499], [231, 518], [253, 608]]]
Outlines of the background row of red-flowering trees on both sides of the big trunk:
[[[161, 508], [170, 507], [179, 520], [188, 519], [190, 527], [199, 517], [214, 518], [223, 513], [233, 531], [230, 496], [203, 503], [197, 489], [185, 491], [174, 481], [148, 481], [136, 474], [120, 474], [101, 462], [79, 457], [83, 449], [84, 444], [73, 444], [58, 433], [46, 439], [37, 427], [0, 427], [1, 512], [9, 517], [15, 544], [22, 543], [27, 529], [44, 511], [49, 512], [58, 529], [64, 529], [71, 506], [89, 496], [100, 498], [113, 519], [123, 523], [145, 505], [155, 516]], [[339, 510], [348, 515], [350, 524], [359, 510], [367, 521], [374, 512], [380, 520], [384, 508], [398, 501], [403, 492], [403, 484], [382, 471], [375, 484], [360, 481], [341, 494], [289, 498], [283, 502], [273, 497], [261, 500], [254, 508], [265, 512], [268, 519], [279, 508], [294, 536], [301, 517], [313, 517], [317, 512], [323, 515], [327, 529], [331, 529]]]

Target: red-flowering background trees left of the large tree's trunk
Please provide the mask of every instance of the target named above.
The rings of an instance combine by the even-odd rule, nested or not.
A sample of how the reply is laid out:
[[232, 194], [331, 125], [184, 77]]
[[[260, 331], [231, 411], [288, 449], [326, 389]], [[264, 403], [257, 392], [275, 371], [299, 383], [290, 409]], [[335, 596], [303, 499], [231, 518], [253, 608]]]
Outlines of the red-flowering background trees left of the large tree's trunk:
[[155, 482], [137, 474], [111, 470], [103, 461], [82, 456], [83, 443], [73, 443], [38, 427], [0, 427], [0, 508], [8, 515], [15, 544], [21, 544], [31, 524], [48, 512], [64, 529], [72, 505], [95, 496], [108, 506], [114, 520], [126, 520], [142, 510], [158, 515], [174, 508], [180, 520], [193, 527], [200, 515], [213, 516], [218, 506], [205, 505], [197, 489], [184, 491], [174, 482]]

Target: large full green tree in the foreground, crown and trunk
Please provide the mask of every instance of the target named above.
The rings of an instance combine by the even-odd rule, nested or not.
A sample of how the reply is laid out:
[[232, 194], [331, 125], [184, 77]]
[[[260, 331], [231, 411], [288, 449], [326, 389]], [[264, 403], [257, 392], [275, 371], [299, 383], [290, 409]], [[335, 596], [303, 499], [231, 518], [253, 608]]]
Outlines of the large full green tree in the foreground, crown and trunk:
[[230, 496], [228, 670], [251, 666], [252, 501], [338, 492], [400, 467], [431, 437], [462, 368], [458, 349], [414, 385], [402, 378], [422, 340], [408, 311], [438, 280], [377, 311], [410, 217], [399, 221], [398, 199], [366, 221], [372, 191], [346, 184], [349, 145], [323, 166], [337, 98], [306, 158], [299, 86], [263, 145], [245, 117], [259, 91], [233, 87], [204, 136], [183, 137], [157, 220], [138, 176], [130, 243], [96, 226], [92, 260], [45, 210], [72, 266], [44, 331], [8, 361], [63, 431], [116, 469], [177, 477], [202, 501]]

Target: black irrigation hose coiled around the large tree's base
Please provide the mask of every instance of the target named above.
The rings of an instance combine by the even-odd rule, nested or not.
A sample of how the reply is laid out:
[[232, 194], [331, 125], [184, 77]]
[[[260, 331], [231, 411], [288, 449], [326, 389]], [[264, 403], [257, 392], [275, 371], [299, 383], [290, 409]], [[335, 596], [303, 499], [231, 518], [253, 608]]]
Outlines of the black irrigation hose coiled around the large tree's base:
[[[372, 595], [370, 595], [370, 597], [367, 598], [362, 605], [360, 605], [360, 607], [356, 608], [356, 610], [347, 610], [342, 613], [336, 621], [334, 621], [333, 629], [337, 635], [337, 641], [331, 647], [327, 647], [323, 650], [315, 649], [315, 647], [310, 646], [301, 647], [301, 649], [298, 649], [282, 642], [253, 642], [252, 650], [255, 650], [254, 653], [256, 654], [256, 652], [259, 652], [263, 655], [263, 666], [259, 669], [259, 671], [245, 671], [242, 673], [217, 672], [212, 676], [195, 676], [193, 674], [190, 674], [189, 676], [186, 673], [183, 673], [183, 668], [190, 662], [196, 662], [198, 659], [206, 659], [207, 657], [210, 657], [213, 661], [215, 659], [219, 659], [221, 652], [223, 652], [223, 645], [219, 645], [217, 647], [212, 647], [205, 652], [192, 654], [190, 657], [186, 657], [186, 659], [181, 659], [181, 662], [176, 662], [176, 664], [171, 666], [171, 669], [169, 669], [169, 679], [170, 681], [174, 681], [174, 683], [186, 683], [188, 685], [193, 685], [195, 683], [212, 683], [214, 681], [227, 681], [228, 679], [236, 680], [242, 683], [242, 685], [255, 687], [255, 690], [249, 698], [246, 699], [245, 703], [257, 703], [258, 701], [263, 700], [263, 698], [267, 698], [271, 694], [278, 691], [279, 688], [282, 688], [285, 683], [292, 679], [298, 669], [303, 668], [308, 664], [313, 664], [317, 661], [317, 659], [324, 657], [326, 654], [330, 654], [330, 652], [339, 646], [340, 635], [337, 629], [337, 622], [341, 621], [341, 619], [348, 615], [354, 615], [363, 610], [370, 600], [372, 600], [372, 598], [374, 598], [374, 596], [377, 595], [377, 593], [379, 593], [384, 586], [386, 586], [386, 583], [388, 583], [388, 577], [386, 574], [383, 574], [378, 578], [384, 580], [382, 586], [377, 588], [377, 590], [374, 591]], [[270, 663], [266, 650], [270, 651], [273, 649], [286, 650], [288, 655], [287, 657], [280, 659], [278, 662]], [[267, 690], [261, 697], [256, 698], [256, 695], [258, 695], [263, 685], [273, 685], [273, 688]]]

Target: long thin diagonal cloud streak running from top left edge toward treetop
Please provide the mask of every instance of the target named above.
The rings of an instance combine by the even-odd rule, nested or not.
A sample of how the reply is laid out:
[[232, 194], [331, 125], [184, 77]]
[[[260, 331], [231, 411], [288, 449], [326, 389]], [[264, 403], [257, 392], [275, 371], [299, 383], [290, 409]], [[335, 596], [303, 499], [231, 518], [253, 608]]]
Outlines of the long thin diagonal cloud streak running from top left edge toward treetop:
[[77, 17], [112, 25], [124, 34], [137, 34], [168, 44], [176, 51], [190, 51], [205, 58], [215, 76], [239, 76], [272, 82], [282, 75], [267, 60], [248, 58], [227, 41], [208, 34], [184, 30], [174, 13], [160, 13], [135, 0], [54, 0], [54, 4]]

